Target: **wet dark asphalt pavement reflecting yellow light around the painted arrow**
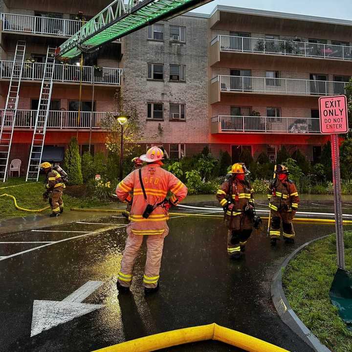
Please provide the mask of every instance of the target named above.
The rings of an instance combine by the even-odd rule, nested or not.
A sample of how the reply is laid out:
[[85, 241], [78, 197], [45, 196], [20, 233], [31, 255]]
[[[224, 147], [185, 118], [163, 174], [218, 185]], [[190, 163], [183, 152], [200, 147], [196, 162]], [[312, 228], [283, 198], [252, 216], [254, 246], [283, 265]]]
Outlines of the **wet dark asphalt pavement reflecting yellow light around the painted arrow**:
[[[160, 291], [145, 297], [141, 286], [145, 245], [137, 259], [132, 294], [118, 295], [115, 283], [126, 241], [126, 229], [119, 226], [125, 220], [109, 217], [91, 222], [97, 224], [72, 223], [0, 237], [0, 242], [7, 242], [0, 243], [1, 352], [88, 352], [213, 322], [291, 352], [311, 351], [280, 320], [271, 302], [270, 284], [290, 252], [334, 232], [334, 224], [296, 223], [295, 244], [280, 241], [275, 248], [270, 247], [265, 231], [253, 233], [244, 258], [233, 262], [227, 257], [221, 219], [176, 217], [170, 220], [170, 235], [165, 239]], [[61, 242], [48, 243], [53, 241]], [[63, 301], [88, 281], [102, 285], [81, 301], [104, 307], [31, 337], [34, 300]], [[162, 351], [241, 350], [206, 341]]]

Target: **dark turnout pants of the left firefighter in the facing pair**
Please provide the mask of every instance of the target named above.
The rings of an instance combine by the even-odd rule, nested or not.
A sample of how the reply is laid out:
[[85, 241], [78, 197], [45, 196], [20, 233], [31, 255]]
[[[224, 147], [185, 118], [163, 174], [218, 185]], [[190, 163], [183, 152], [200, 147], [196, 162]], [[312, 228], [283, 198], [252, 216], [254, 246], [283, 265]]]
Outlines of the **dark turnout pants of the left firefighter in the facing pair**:
[[244, 250], [248, 238], [252, 233], [252, 220], [245, 214], [240, 214], [226, 220], [227, 253], [229, 256]]

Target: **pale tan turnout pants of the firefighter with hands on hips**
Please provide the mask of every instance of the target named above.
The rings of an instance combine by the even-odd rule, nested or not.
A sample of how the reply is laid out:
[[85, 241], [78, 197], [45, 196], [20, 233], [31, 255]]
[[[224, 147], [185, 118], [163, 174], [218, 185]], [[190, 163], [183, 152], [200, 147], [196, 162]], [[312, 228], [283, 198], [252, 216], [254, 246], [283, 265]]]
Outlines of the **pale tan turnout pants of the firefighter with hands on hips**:
[[144, 237], [147, 238], [147, 260], [144, 268], [143, 286], [147, 288], [154, 288], [157, 286], [164, 238], [168, 235], [168, 233], [169, 227], [167, 225], [162, 235], [149, 236], [132, 234], [131, 224], [127, 226], [128, 237], [122, 256], [121, 269], [118, 273], [118, 282], [122, 286], [131, 286], [134, 264]]

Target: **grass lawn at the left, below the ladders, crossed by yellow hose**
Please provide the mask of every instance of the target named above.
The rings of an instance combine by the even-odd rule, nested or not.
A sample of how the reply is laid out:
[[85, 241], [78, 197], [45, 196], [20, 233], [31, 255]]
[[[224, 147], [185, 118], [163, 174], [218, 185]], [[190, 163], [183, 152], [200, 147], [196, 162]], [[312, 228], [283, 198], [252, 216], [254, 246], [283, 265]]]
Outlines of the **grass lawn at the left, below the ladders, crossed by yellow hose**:
[[[26, 209], [42, 209], [47, 206], [48, 202], [44, 202], [42, 196], [44, 191], [44, 177], [41, 177], [39, 182], [35, 183], [26, 183], [24, 177], [12, 177], [9, 178], [7, 182], [0, 183], [0, 195], [7, 193], [14, 196], [17, 199], [17, 204], [20, 207]], [[84, 185], [67, 186], [66, 190], [64, 191], [63, 199], [66, 210], [70, 209], [71, 207], [94, 208], [110, 204], [110, 202], [107, 201], [87, 197], [86, 187]], [[47, 209], [43, 212], [43, 214], [49, 214], [50, 212], [51, 210]], [[0, 219], [23, 217], [33, 214], [40, 213], [30, 213], [17, 210], [12, 198], [0, 197]]]

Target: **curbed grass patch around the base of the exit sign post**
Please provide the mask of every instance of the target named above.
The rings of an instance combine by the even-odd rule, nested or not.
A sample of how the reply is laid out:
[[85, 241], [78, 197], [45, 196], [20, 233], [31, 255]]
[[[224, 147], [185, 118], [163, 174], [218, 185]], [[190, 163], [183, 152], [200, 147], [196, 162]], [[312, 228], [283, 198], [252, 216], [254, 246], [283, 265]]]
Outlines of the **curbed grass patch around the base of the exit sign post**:
[[[351, 270], [352, 231], [345, 232], [345, 260]], [[333, 234], [303, 249], [286, 267], [283, 284], [288, 302], [308, 329], [332, 352], [351, 352], [352, 332], [329, 297], [336, 268]]]

